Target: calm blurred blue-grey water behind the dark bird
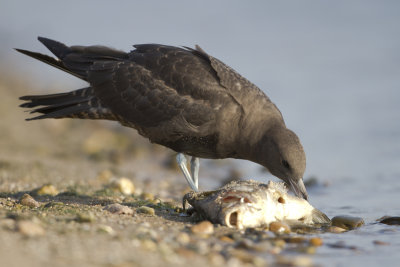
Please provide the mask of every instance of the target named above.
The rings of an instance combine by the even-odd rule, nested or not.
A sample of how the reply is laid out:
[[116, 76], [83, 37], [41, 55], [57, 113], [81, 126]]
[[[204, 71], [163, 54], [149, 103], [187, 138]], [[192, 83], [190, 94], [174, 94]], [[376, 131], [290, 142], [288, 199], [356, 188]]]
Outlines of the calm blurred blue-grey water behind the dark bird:
[[[280, 108], [306, 150], [305, 177], [319, 182], [309, 189], [311, 203], [329, 217], [366, 221], [324, 236], [356, 251], [324, 246], [315, 261], [394, 266], [400, 229], [375, 220], [400, 215], [399, 12], [399, 1], [0, 0], [0, 64], [60, 92], [84, 83], [12, 48], [48, 53], [37, 36], [126, 51], [138, 43], [199, 44]], [[255, 164], [234, 164], [245, 177], [272, 179]], [[202, 180], [212, 187], [212, 179]]]

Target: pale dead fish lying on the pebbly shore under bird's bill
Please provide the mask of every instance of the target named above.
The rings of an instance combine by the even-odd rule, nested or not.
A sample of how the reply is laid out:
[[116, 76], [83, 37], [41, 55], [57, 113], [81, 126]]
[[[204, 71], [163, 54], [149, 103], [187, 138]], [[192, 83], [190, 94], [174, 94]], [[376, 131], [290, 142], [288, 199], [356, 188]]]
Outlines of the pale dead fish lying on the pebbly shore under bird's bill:
[[329, 218], [307, 200], [289, 195], [285, 184], [253, 180], [232, 181], [208, 192], [190, 192], [183, 197], [204, 218], [228, 227], [247, 228], [275, 221], [329, 224]]

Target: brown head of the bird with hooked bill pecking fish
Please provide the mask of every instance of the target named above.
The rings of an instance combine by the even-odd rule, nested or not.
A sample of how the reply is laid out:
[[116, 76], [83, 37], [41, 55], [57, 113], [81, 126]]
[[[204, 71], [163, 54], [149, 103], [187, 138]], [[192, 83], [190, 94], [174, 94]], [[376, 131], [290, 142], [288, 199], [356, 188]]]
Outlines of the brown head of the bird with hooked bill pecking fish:
[[263, 138], [261, 155], [264, 167], [282, 179], [296, 196], [307, 199], [303, 183], [306, 155], [297, 135], [286, 127], [274, 127]]

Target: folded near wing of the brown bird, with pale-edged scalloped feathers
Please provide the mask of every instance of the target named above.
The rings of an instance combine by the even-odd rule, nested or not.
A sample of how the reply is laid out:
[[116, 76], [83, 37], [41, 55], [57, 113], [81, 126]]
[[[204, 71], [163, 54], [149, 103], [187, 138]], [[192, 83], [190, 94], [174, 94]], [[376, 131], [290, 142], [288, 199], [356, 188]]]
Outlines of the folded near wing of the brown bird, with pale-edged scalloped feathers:
[[88, 80], [103, 106], [139, 130], [165, 126], [176, 134], [201, 135], [215, 119], [207, 101], [183, 94], [132, 61], [95, 62]]

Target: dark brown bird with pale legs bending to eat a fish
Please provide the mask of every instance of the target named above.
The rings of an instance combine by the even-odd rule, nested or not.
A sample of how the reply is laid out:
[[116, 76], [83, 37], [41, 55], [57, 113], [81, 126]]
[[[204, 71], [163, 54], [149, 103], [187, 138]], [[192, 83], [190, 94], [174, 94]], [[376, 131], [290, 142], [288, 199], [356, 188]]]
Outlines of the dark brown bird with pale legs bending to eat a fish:
[[[35, 117], [117, 121], [150, 142], [177, 152], [198, 192], [199, 158], [258, 163], [307, 199], [306, 156], [282, 113], [256, 85], [200, 46], [137, 44], [130, 52], [106, 46], [67, 46], [38, 40], [55, 56], [16, 49], [88, 83], [70, 92], [26, 95]], [[39, 115], [38, 115], [38, 114]], [[187, 159], [190, 157], [190, 171]]]

